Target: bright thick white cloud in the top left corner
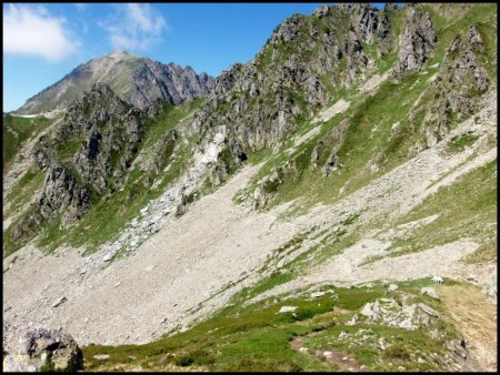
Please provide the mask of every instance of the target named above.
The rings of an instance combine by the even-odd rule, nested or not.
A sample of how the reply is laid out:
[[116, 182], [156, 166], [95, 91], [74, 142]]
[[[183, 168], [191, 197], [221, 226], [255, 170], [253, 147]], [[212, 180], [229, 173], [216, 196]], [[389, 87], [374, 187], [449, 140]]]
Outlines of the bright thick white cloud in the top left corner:
[[3, 10], [3, 53], [41, 55], [58, 62], [73, 53], [79, 42], [71, 40], [63, 18], [51, 17], [42, 7], [9, 4]]

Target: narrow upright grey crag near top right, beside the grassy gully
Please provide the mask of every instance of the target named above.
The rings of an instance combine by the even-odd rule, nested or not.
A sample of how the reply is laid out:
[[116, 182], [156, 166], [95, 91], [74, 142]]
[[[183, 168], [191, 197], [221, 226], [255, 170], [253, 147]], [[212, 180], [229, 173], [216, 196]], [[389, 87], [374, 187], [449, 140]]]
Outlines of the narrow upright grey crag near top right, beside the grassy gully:
[[398, 77], [407, 71], [418, 71], [432, 55], [438, 41], [434, 26], [428, 12], [408, 8], [407, 26], [401, 38], [399, 61], [394, 65]]

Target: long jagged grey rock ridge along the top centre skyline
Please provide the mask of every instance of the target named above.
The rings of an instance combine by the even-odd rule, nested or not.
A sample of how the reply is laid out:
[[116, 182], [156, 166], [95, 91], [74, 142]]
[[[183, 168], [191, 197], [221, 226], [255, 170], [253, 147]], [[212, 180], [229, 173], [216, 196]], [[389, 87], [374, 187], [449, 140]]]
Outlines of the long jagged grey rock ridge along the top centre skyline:
[[299, 119], [326, 104], [327, 85], [354, 84], [369, 64], [363, 43], [380, 43], [390, 30], [387, 16], [369, 4], [293, 14], [252, 61], [232, 65], [216, 80], [190, 128], [198, 132], [203, 126], [202, 136], [210, 138], [213, 125], [223, 124], [228, 145], [238, 144], [244, 153], [274, 148]]

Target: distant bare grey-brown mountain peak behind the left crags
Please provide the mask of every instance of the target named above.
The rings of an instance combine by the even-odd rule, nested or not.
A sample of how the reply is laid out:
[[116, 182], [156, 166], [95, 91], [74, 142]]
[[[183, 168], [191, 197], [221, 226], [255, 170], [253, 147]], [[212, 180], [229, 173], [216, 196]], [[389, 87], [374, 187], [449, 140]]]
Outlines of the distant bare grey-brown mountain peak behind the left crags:
[[17, 113], [33, 114], [66, 107], [93, 83], [106, 83], [129, 104], [144, 109], [161, 99], [172, 104], [206, 94], [213, 78], [191, 67], [163, 64], [128, 52], [113, 52], [79, 65], [63, 79], [28, 99]]

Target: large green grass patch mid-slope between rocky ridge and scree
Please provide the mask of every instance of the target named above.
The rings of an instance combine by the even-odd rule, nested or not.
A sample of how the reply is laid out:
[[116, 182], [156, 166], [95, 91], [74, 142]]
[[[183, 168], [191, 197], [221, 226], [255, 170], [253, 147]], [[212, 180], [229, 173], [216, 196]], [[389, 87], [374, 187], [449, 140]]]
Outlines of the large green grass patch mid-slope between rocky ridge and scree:
[[[271, 155], [248, 186], [247, 196], [253, 192], [257, 181], [289, 161], [293, 163], [292, 170], [296, 172], [289, 174], [283, 184], [277, 186], [278, 194], [268, 207], [298, 196], [306, 199], [309, 207], [318, 202], [333, 203], [339, 197], [367, 185], [407, 160], [408, 149], [414, 144], [418, 135], [410, 128], [402, 128], [394, 138], [391, 138], [392, 125], [404, 119], [426, 87], [426, 75], [422, 78], [410, 74], [401, 83], [383, 82], [373, 95], [352, 98], [351, 107], [344, 113], [327, 121], [320, 132], [298, 145], [291, 156], [287, 154], [286, 146]], [[406, 98], [404, 102], [401, 102], [401, 98]], [[380, 110], [381, 102], [386, 103], [383, 111]], [[301, 126], [298, 129], [300, 132]], [[340, 140], [338, 136], [328, 136], [329, 132], [336, 131], [342, 134]], [[290, 139], [296, 134], [291, 134]], [[329, 178], [324, 178], [321, 169], [314, 169], [310, 163], [312, 150], [319, 140], [323, 141], [323, 151], [317, 164], [321, 166], [326, 163], [332, 148], [338, 148], [337, 156], [342, 164]], [[379, 170], [377, 172], [367, 170], [367, 163], [378, 155], [383, 155]]]

